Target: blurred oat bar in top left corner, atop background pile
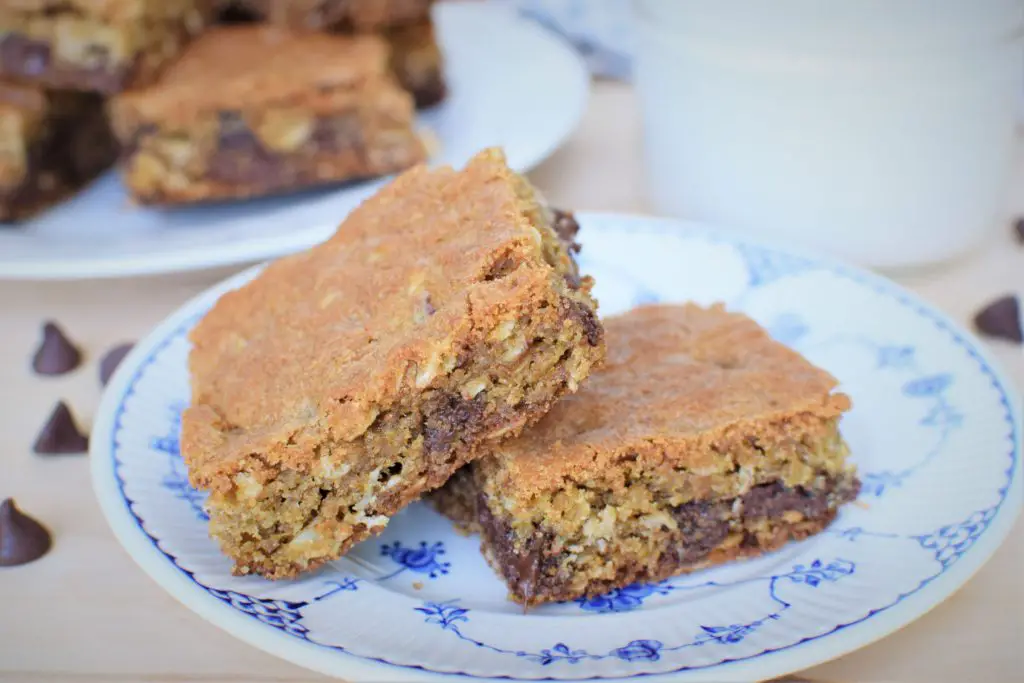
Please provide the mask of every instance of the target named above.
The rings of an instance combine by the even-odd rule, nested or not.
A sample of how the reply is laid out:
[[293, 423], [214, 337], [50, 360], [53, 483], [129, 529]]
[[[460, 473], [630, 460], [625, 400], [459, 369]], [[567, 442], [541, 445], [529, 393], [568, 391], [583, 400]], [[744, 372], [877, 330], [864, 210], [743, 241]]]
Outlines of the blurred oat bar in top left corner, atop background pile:
[[0, 76], [113, 94], [152, 82], [212, 18], [212, 0], [5, 0]]

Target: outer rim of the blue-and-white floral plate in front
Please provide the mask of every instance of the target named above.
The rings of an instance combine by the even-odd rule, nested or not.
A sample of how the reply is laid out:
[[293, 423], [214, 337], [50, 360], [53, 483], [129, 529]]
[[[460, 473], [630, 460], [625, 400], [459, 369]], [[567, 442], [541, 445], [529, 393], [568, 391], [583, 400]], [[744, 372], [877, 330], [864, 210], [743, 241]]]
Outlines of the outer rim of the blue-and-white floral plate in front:
[[[588, 222], [598, 221], [653, 224], [659, 229], [671, 227], [679, 230], [680, 233], [705, 239], [712, 243], [742, 245], [786, 256], [806, 258], [829, 271], [897, 299], [900, 304], [909, 307], [910, 312], [926, 317], [939, 328], [940, 333], [951, 337], [951, 341], [963, 348], [964, 352], [978, 364], [977, 372], [986, 376], [986, 380], [999, 394], [1000, 402], [1007, 411], [1006, 417], [1010, 426], [1008, 439], [1012, 450], [1010, 452], [1011, 464], [1007, 492], [997, 504], [996, 514], [985, 532], [975, 541], [971, 551], [962, 556], [955, 566], [927, 580], [909, 593], [901, 594], [894, 603], [871, 610], [865, 616], [846, 625], [840, 625], [826, 633], [807, 637], [776, 649], [766, 649], [743, 658], [724, 660], [706, 667], [680, 668], [658, 674], [641, 673], [628, 677], [579, 679], [478, 677], [459, 672], [436, 672], [416, 665], [387, 663], [348, 652], [342, 648], [323, 646], [292, 638], [272, 629], [268, 630], [267, 627], [247, 617], [246, 614], [216, 602], [207, 592], [198, 592], [195, 586], [196, 582], [187, 575], [186, 570], [179, 567], [174, 561], [168, 561], [171, 558], [160, 548], [159, 542], [145, 531], [143, 521], [135, 516], [130, 507], [131, 502], [119, 485], [118, 461], [114, 457], [113, 449], [119, 428], [117, 418], [120, 412], [118, 409], [156, 352], [169, 343], [173, 339], [174, 333], [182, 326], [187, 325], [189, 318], [195, 317], [198, 307], [207, 300], [214, 300], [224, 292], [241, 286], [255, 276], [265, 264], [253, 266], [215, 284], [168, 315], [140, 343], [136, 344], [128, 357], [121, 364], [104, 391], [93, 427], [93, 434], [100, 438], [94, 438], [90, 442], [90, 469], [93, 488], [100, 508], [118, 542], [151, 579], [203, 618], [250, 645], [297, 666], [328, 676], [344, 675], [353, 680], [382, 682], [466, 681], [474, 679], [621, 681], [635, 678], [651, 681], [651, 683], [679, 680], [680, 674], [691, 680], [700, 679], [701, 674], [708, 673], [714, 674], [713, 680], [715, 681], [772, 678], [848, 654], [898, 631], [944, 602], [966, 585], [1002, 545], [1020, 516], [1021, 500], [1024, 498], [1021, 476], [1022, 431], [1024, 431], [1022, 428], [1021, 398], [1005, 369], [975, 335], [945, 312], [901, 285], [874, 272], [845, 264], [828, 256], [815, 254], [810, 250], [777, 246], [693, 221], [630, 213], [586, 211], [578, 212], [577, 217], [584, 227], [587, 226]], [[813, 643], [813, 646], [807, 647], [809, 643]], [[349, 655], [341, 659], [344, 664], [340, 666], [338, 653]], [[344, 673], [340, 673], [340, 669], [343, 669]]]

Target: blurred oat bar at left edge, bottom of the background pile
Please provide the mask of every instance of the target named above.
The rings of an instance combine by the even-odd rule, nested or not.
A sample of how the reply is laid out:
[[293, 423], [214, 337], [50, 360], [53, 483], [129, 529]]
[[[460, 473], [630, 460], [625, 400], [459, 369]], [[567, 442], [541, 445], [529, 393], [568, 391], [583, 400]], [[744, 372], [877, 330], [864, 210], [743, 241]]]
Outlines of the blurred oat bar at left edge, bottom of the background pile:
[[98, 95], [0, 83], [0, 221], [59, 202], [116, 156]]

